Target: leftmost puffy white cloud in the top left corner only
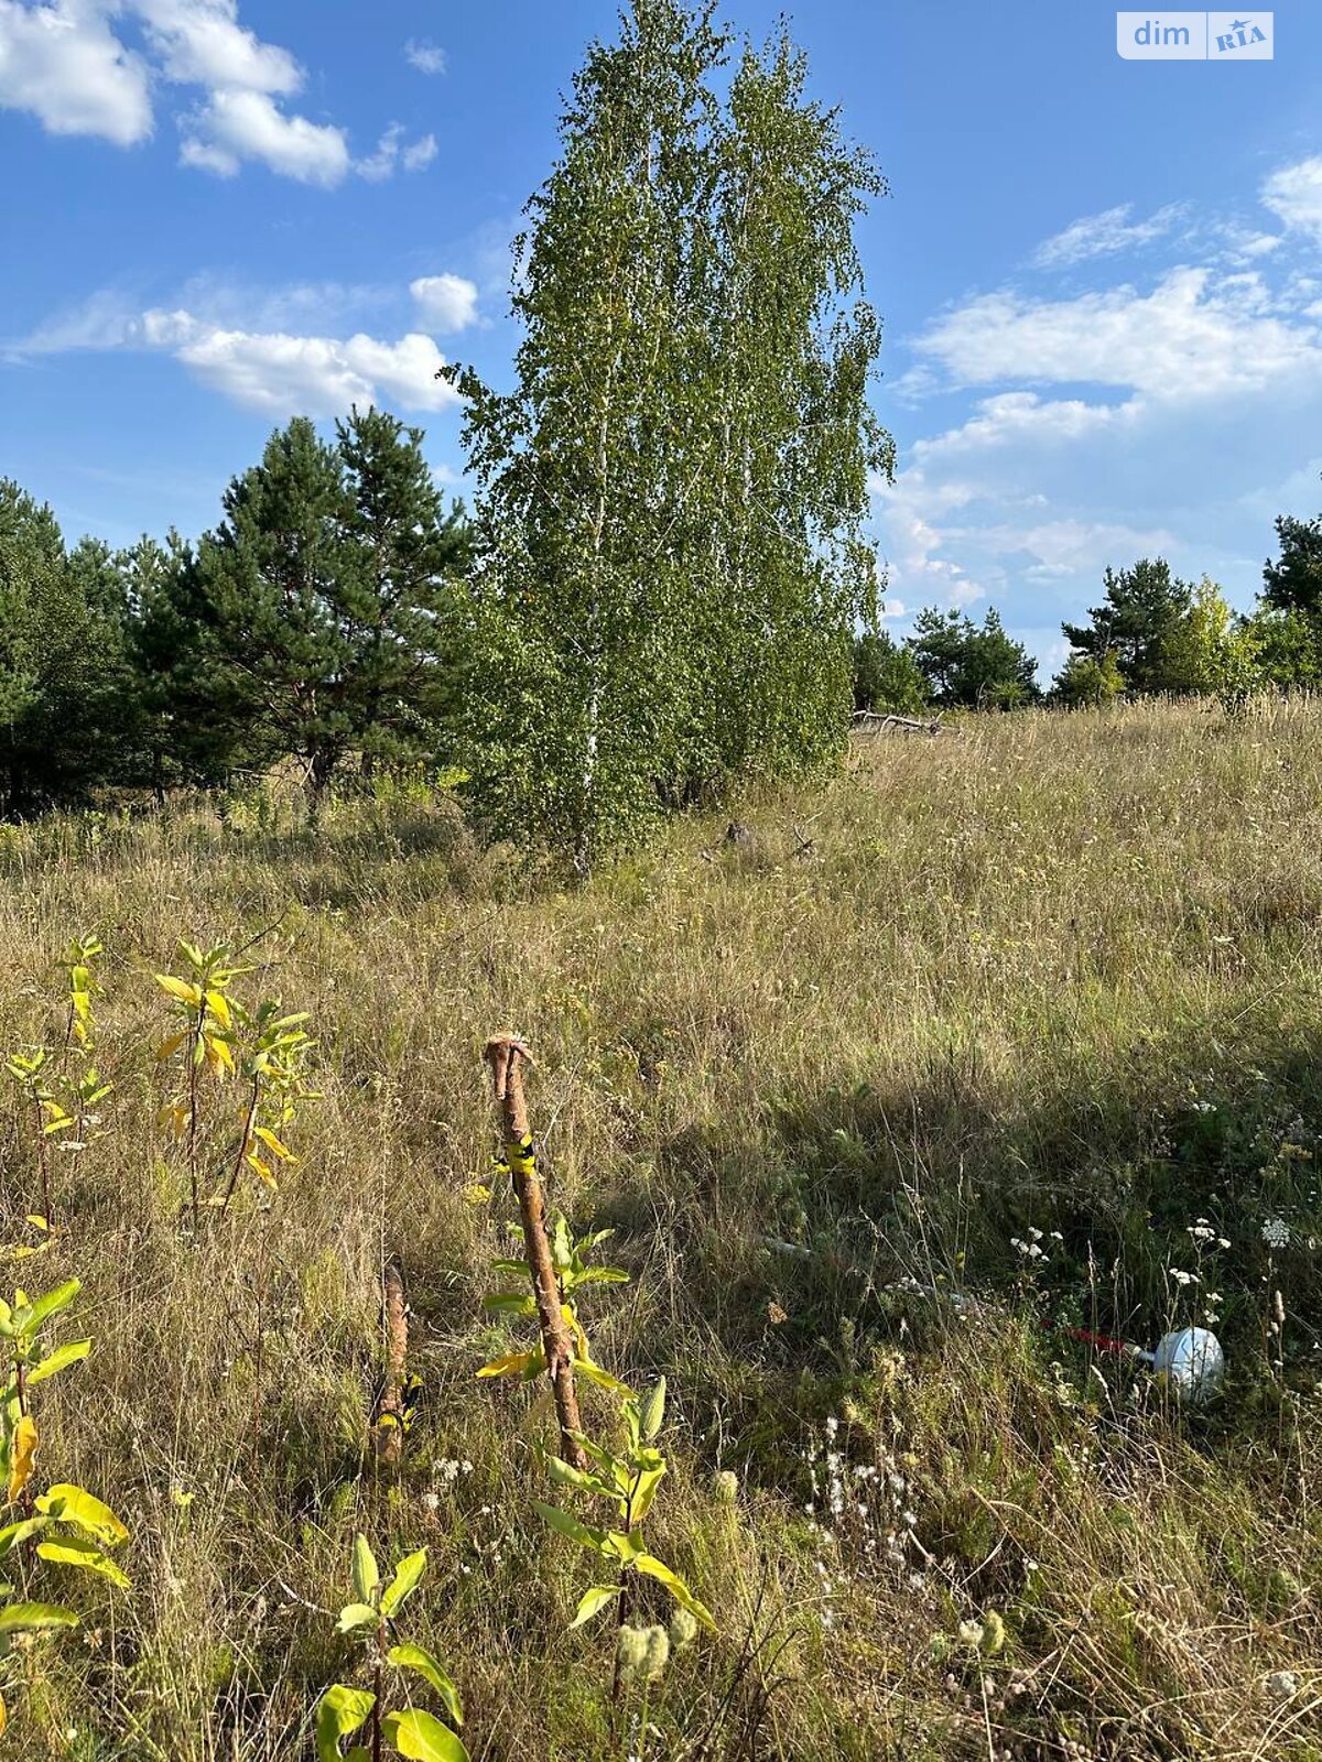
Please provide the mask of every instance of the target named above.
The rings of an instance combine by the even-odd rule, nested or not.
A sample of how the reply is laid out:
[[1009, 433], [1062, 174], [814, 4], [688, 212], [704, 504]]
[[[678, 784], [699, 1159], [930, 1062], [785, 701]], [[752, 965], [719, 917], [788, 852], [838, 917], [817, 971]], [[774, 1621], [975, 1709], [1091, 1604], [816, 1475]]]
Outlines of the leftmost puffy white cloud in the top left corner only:
[[0, 0], [0, 107], [28, 111], [51, 134], [92, 134], [116, 146], [152, 132], [148, 69], [92, 0]]

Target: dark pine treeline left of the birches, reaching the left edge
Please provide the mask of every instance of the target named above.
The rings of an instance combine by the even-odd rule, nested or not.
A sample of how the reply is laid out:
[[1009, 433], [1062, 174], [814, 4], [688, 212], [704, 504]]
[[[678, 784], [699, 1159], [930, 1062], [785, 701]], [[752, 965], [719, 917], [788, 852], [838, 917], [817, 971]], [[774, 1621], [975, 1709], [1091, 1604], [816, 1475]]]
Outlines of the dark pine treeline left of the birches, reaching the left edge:
[[0, 811], [213, 786], [301, 763], [316, 807], [354, 758], [458, 738], [472, 539], [423, 435], [354, 411], [296, 419], [234, 478], [215, 530], [67, 548], [0, 483]]

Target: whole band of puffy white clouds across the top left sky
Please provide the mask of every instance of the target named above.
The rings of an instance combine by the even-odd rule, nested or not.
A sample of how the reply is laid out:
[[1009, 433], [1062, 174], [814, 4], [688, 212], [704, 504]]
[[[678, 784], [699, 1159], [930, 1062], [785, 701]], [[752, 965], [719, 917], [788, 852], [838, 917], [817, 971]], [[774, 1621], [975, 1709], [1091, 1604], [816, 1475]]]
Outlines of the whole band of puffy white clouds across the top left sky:
[[[115, 19], [141, 30], [137, 53]], [[0, 107], [33, 115], [51, 134], [132, 146], [152, 134], [153, 86], [201, 86], [182, 118], [180, 162], [233, 178], [264, 164], [300, 183], [333, 187], [351, 166], [344, 129], [287, 109], [303, 69], [240, 23], [238, 0], [0, 0]], [[425, 136], [404, 148], [388, 130], [360, 164], [365, 176], [435, 157]]]

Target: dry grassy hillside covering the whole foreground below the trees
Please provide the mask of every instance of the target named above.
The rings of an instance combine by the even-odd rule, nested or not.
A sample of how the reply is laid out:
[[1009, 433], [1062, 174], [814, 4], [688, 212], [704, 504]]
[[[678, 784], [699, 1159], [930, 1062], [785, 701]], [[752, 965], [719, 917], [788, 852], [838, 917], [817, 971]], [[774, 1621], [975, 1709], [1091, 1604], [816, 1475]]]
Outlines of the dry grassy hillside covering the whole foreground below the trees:
[[[1322, 1757], [1322, 708], [989, 717], [737, 812], [751, 840], [686, 819], [582, 892], [407, 800], [0, 833], [5, 1045], [62, 1034], [71, 934], [108, 946], [116, 1087], [11, 1279], [83, 1279], [41, 1480], [122, 1512], [132, 1577], [0, 1663], [2, 1755], [312, 1755], [363, 1529], [428, 1547], [412, 1637], [488, 1762]], [[312, 1013], [321, 1099], [279, 1195], [194, 1237], [152, 974], [268, 925], [236, 990]], [[721, 1630], [615, 1737], [612, 1618], [564, 1632], [592, 1561], [531, 1508], [545, 1385], [474, 1380], [529, 1341], [481, 1307], [501, 1027], [553, 1202], [633, 1274], [589, 1332], [670, 1380], [649, 1540]], [[204, 1092], [210, 1168], [238, 1098]], [[388, 1256], [425, 1383], [398, 1484], [365, 1466]], [[1206, 1411], [1059, 1332], [1209, 1313]]]

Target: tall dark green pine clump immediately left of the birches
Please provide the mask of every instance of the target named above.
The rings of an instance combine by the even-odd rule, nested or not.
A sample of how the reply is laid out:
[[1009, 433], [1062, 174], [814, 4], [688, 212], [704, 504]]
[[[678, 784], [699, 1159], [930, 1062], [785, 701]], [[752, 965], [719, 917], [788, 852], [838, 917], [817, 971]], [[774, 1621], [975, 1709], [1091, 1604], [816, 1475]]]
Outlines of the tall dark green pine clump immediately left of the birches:
[[421, 440], [377, 411], [337, 444], [296, 418], [229, 485], [215, 532], [153, 580], [137, 650], [187, 775], [293, 756], [316, 812], [349, 756], [435, 751], [469, 541]]

